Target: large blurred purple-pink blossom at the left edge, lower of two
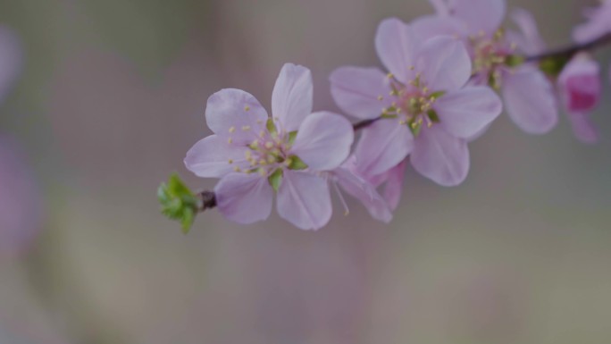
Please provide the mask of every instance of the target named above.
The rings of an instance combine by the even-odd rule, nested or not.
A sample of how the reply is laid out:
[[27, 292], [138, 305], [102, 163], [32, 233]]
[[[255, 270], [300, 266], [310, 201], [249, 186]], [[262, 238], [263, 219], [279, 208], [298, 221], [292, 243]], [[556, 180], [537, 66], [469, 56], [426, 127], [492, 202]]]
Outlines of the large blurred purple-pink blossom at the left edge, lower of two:
[[12, 140], [0, 137], [0, 256], [28, 248], [40, 229], [41, 202], [34, 179]]

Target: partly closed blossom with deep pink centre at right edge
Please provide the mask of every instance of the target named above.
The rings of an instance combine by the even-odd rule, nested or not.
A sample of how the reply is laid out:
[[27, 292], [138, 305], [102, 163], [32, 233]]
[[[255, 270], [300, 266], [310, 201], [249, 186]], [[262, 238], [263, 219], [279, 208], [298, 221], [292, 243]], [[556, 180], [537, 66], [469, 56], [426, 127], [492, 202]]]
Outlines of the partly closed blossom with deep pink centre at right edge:
[[598, 133], [590, 122], [590, 112], [601, 93], [600, 65], [587, 55], [578, 55], [558, 76], [558, 91], [575, 136], [594, 143]]

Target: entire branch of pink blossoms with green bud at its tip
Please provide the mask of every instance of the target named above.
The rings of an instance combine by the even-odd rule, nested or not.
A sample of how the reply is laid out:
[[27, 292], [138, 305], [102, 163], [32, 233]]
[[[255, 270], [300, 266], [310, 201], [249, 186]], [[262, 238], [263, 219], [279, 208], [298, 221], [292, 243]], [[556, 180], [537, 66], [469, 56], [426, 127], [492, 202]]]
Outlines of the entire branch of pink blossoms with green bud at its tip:
[[220, 181], [205, 200], [164, 186], [164, 211], [178, 218], [180, 205], [189, 205], [190, 224], [194, 212], [216, 206], [231, 221], [251, 223], [268, 218], [275, 197], [280, 217], [317, 230], [331, 219], [335, 190], [346, 213], [344, 193], [389, 222], [409, 165], [441, 186], [461, 184], [468, 144], [503, 109], [521, 130], [544, 134], [562, 107], [577, 138], [596, 141], [589, 114], [601, 71], [590, 50], [611, 41], [611, 1], [586, 13], [588, 21], [574, 30], [577, 46], [551, 53], [531, 13], [516, 9], [514, 29], [503, 26], [504, 0], [430, 1], [434, 14], [381, 21], [374, 46], [384, 70], [344, 66], [331, 73], [336, 104], [361, 122], [313, 113], [311, 72], [290, 63], [273, 88], [272, 115], [239, 89], [210, 96], [205, 119], [213, 135], [188, 151], [185, 164]]

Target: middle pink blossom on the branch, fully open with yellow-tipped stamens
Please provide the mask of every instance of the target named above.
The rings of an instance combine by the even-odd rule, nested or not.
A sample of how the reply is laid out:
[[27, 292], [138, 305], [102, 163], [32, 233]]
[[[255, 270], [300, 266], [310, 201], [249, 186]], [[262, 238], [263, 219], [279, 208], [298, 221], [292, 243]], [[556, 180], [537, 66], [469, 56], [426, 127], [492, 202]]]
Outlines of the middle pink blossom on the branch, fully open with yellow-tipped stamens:
[[467, 141], [501, 112], [498, 96], [467, 84], [471, 60], [456, 38], [424, 40], [411, 26], [388, 19], [375, 46], [388, 75], [348, 66], [330, 78], [343, 111], [362, 120], [380, 118], [363, 130], [356, 150], [373, 162], [367, 174], [388, 172], [410, 155], [423, 176], [443, 186], [460, 184], [469, 170]]

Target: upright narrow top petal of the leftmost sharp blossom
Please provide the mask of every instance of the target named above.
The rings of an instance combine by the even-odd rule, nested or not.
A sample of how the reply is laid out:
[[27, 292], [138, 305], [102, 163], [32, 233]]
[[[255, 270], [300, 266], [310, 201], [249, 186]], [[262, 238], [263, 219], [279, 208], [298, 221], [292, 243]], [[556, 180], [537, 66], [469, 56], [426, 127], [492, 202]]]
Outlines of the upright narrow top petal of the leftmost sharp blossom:
[[272, 114], [283, 130], [297, 130], [312, 113], [312, 73], [306, 67], [286, 63], [272, 93]]

